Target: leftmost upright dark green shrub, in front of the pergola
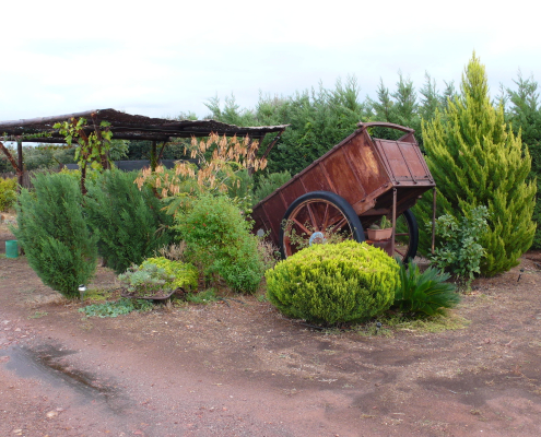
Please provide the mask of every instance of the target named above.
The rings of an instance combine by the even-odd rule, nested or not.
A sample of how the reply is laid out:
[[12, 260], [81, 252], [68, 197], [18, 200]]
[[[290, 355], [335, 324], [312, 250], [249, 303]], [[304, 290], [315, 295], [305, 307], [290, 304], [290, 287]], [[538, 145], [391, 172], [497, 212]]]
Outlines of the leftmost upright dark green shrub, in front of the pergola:
[[66, 297], [79, 297], [96, 269], [96, 238], [83, 216], [83, 199], [70, 175], [40, 174], [34, 191], [23, 189], [13, 229], [28, 264], [44, 284]]

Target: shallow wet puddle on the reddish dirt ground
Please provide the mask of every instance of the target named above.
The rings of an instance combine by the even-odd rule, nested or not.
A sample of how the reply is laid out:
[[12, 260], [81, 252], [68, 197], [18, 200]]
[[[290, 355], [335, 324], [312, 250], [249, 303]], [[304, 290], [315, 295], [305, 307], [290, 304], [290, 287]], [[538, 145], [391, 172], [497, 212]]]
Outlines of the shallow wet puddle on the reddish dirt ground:
[[116, 414], [122, 413], [125, 402], [118, 388], [94, 374], [73, 368], [63, 359], [75, 353], [52, 344], [34, 347], [12, 345], [0, 350], [0, 357], [9, 356], [4, 367], [19, 377], [34, 378], [54, 387], [68, 387], [86, 400], [105, 402]]

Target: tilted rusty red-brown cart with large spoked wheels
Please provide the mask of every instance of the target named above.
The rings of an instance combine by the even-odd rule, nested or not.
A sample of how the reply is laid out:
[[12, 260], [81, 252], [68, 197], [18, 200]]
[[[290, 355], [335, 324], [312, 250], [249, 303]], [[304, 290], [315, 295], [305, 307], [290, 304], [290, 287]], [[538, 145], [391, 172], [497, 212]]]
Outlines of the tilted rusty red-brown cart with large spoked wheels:
[[[255, 232], [268, 235], [283, 258], [315, 244], [366, 240], [402, 260], [415, 257], [419, 228], [410, 209], [435, 181], [413, 129], [360, 122], [358, 129], [255, 208]], [[372, 138], [369, 128], [397, 129], [399, 140]], [[365, 231], [386, 216], [391, 236], [367, 239]]]

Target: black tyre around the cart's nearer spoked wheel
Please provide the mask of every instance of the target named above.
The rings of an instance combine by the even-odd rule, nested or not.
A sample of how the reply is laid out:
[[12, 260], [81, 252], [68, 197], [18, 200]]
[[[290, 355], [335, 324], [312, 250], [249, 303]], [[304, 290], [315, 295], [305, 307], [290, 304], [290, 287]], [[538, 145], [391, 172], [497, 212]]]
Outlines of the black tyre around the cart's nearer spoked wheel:
[[[282, 223], [287, 223], [291, 215], [296, 211], [301, 211], [299, 208], [303, 208], [303, 205], [308, 203], [317, 203], [317, 200], [321, 200], [322, 203], [332, 204], [342, 213], [343, 217], [346, 220], [350, 226], [352, 239], [358, 243], [365, 240], [363, 225], [361, 224], [361, 220], [358, 218], [357, 214], [353, 210], [353, 206], [348, 203], [344, 198], [330, 191], [311, 191], [301, 196], [287, 208]], [[286, 243], [284, 226], [280, 226], [279, 245], [282, 259], [286, 259], [287, 253], [285, 248]]]

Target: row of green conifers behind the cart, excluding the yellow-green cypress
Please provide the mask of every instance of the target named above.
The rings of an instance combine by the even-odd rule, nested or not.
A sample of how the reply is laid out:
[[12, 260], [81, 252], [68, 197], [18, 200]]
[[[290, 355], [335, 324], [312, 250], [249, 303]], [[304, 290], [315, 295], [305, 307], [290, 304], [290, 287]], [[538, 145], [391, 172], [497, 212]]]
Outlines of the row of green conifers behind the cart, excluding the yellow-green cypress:
[[[522, 142], [531, 155], [541, 158], [538, 83], [533, 78], [524, 79], [520, 72], [514, 82], [514, 88], [501, 88], [498, 95], [490, 99], [491, 106], [503, 106], [505, 121], [511, 123], [515, 134], [522, 131]], [[234, 96], [225, 97], [224, 102], [213, 97], [205, 105], [210, 110], [209, 118], [232, 125], [290, 125], [269, 156], [269, 172], [296, 174], [349, 135], [360, 120], [411, 127], [423, 146], [422, 120], [433, 120], [436, 111], [445, 111], [449, 102], [460, 95], [452, 82], [444, 83], [444, 90], [438, 90], [435, 79], [426, 73], [425, 82], [417, 88], [411, 79], [399, 73], [395, 90], [381, 81], [375, 98], [362, 99], [357, 80], [348, 76], [345, 81], [339, 79], [334, 88], [320, 84], [291, 96], [260, 95], [254, 108], [242, 108]], [[541, 172], [538, 161], [532, 168]]]

